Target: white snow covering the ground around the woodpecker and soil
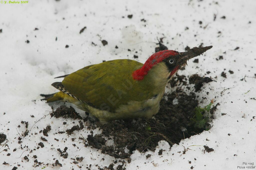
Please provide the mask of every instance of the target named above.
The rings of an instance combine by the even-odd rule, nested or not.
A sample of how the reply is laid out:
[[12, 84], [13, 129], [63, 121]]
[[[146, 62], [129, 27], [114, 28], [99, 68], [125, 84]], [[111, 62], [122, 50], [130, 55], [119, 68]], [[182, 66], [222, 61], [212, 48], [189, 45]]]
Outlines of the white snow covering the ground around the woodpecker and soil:
[[[168, 49], [180, 52], [187, 45], [190, 48], [201, 43], [213, 46], [203, 56], [197, 57], [199, 63], [189, 61], [186, 70], [179, 73], [203, 76], [210, 71], [207, 76], [217, 76], [213, 78], [217, 82], [205, 85], [205, 91], [197, 95], [198, 99], [206, 97], [202, 100], [202, 106], [207, 105], [211, 99], [214, 99], [215, 104], [219, 102], [220, 106], [209, 131], [184, 139], [172, 148], [166, 141], [160, 141], [155, 152], [134, 151], [131, 163], [126, 162], [125, 168], [239, 169], [237, 166], [249, 166], [243, 165], [243, 162], [254, 163], [252, 166], [255, 168], [255, 7], [254, 0], [100, 3], [61, 0], [0, 4], [0, 133], [6, 134], [5, 142], [8, 145], [3, 145], [3, 142], [0, 146], [0, 169], [12, 169], [14, 166], [18, 169], [34, 169], [36, 164], [33, 155], [37, 155], [38, 162], [43, 163], [35, 169], [44, 166], [46, 169], [86, 169], [90, 164], [91, 169], [98, 169], [113, 163], [116, 160], [114, 157], [84, 147], [79, 137], [86, 137], [90, 130], [83, 128], [70, 136], [56, 133], [56, 129], [65, 131], [79, 123], [65, 119], [67, 124], [63, 125], [63, 120], [51, 118], [51, 106], [56, 109], [62, 103], [47, 104], [40, 101], [39, 94], [56, 92], [50, 86], [55, 82], [54, 77], [102, 60], [133, 59], [133, 55], [138, 55], [136, 60], [145, 62], [154, 53], [157, 37], [165, 37], [163, 41]], [[131, 19], [127, 18], [130, 14], [133, 15]], [[222, 16], [226, 18], [222, 19]], [[87, 28], [80, 34], [83, 27]], [[27, 40], [29, 43], [25, 42]], [[101, 40], [106, 40], [108, 44], [103, 46]], [[65, 48], [66, 45], [69, 47]], [[239, 49], [234, 50], [236, 47]], [[223, 56], [223, 60], [216, 60], [219, 56]], [[230, 74], [229, 70], [234, 74]], [[223, 71], [227, 78], [221, 76]], [[84, 114], [79, 109], [76, 111], [81, 116]], [[27, 121], [28, 130], [31, 130], [28, 136], [21, 139], [22, 143], [18, 144], [19, 134], [26, 130], [21, 121]], [[47, 125], [53, 130], [45, 137], [39, 131]], [[95, 129], [93, 133], [99, 134], [101, 131]], [[43, 148], [36, 149], [38, 143], [42, 142], [41, 136], [48, 141], [43, 142]], [[75, 138], [74, 142], [71, 138]], [[113, 145], [113, 141], [107, 143]], [[204, 145], [214, 151], [204, 152]], [[68, 147], [67, 159], [57, 151], [65, 147]], [[15, 148], [16, 151], [13, 151]], [[160, 149], [163, 149], [162, 155], [158, 155]], [[147, 154], [152, 156], [146, 158]], [[24, 156], [29, 161], [24, 160]], [[71, 158], [81, 156], [84, 158], [82, 162], [72, 163], [74, 160]], [[56, 160], [62, 167], [51, 165]], [[4, 165], [4, 162], [8, 164]]]

